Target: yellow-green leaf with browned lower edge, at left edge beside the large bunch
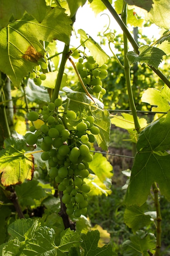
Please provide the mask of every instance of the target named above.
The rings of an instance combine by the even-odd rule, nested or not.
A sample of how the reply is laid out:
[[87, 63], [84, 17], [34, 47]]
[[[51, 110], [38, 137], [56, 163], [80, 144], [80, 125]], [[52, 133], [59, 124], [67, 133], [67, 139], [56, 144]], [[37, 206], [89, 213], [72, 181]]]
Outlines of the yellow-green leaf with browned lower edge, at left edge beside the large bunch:
[[33, 155], [26, 153], [25, 140], [9, 138], [4, 141], [5, 148], [0, 151], [1, 183], [10, 186], [32, 180], [34, 164]]

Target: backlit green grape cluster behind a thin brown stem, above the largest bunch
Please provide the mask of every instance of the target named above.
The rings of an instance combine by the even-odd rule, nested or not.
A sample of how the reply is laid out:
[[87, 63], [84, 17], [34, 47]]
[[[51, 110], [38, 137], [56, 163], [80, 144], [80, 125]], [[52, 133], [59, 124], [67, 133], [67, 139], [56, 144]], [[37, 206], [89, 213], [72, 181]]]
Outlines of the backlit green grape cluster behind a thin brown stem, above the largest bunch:
[[[78, 56], [78, 55], [77, 55]], [[75, 58], [76, 56], [73, 55]], [[77, 70], [86, 85], [86, 88], [90, 94], [95, 95], [100, 101], [102, 101], [103, 95], [106, 90], [102, 88], [102, 79], [107, 77], [107, 65], [103, 64], [101, 67], [96, 63], [93, 56], [80, 57], [76, 63]], [[77, 84], [75, 90], [84, 92], [80, 82]]]

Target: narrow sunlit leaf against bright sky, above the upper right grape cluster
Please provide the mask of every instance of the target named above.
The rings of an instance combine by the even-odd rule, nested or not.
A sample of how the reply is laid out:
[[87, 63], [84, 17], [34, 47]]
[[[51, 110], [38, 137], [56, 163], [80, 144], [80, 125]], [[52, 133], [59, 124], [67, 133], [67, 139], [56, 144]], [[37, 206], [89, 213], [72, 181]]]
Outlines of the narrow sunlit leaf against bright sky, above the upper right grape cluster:
[[[102, 4], [100, 2], [100, 4]], [[102, 66], [109, 58], [109, 56], [102, 50], [102, 48], [96, 43], [93, 38], [87, 36], [86, 32], [83, 29], [78, 30], [78, 34], [80, 34], [80, 38], [84, 42], [85, 46], [89, 49], [91, 55], [93, 56], [94, 60], [97, 64]]]

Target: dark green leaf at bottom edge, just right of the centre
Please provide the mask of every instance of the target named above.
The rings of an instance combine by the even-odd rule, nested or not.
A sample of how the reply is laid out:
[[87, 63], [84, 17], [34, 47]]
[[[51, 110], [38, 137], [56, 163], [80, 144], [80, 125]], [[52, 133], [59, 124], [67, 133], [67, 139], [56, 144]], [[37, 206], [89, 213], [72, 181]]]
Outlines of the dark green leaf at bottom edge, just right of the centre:
[[81, 247], [84, 249], [84, 255], [86, 256], [116, 256], [117, 254], [112, 251], [111, 245], [104, 245], [103, 247], [97, 247], [99, 241], [99, 231], [88, 231], [87, 234], [81, 235], [83, 242]]

